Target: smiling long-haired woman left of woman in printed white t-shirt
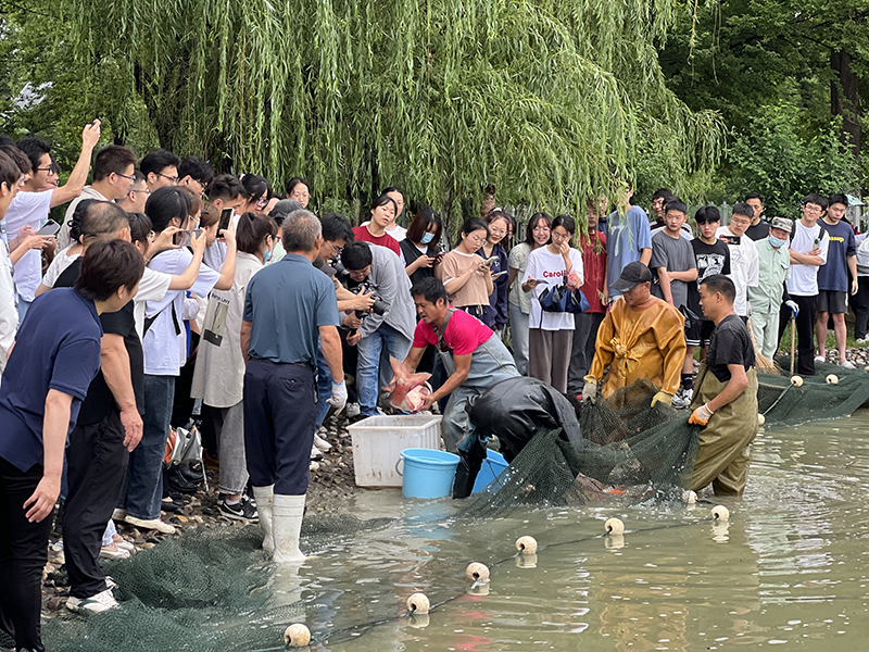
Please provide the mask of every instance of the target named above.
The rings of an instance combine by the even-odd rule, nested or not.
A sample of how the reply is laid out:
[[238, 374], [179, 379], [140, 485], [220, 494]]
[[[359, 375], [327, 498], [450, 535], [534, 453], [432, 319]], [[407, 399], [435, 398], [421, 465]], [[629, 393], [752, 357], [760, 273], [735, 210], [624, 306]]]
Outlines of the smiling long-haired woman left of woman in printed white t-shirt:
[[521, 279], [528, 267], [528, 256], [534, 249], [550, 242], [552, 217], [545, 213], [534, 213], [525, 230], [525, 242], [509, 250], [509, 333], [513, 340], [513, 359], [522, 376], [528, 375], [528, 316], [531, 312], [532, 296], [522, 291]]

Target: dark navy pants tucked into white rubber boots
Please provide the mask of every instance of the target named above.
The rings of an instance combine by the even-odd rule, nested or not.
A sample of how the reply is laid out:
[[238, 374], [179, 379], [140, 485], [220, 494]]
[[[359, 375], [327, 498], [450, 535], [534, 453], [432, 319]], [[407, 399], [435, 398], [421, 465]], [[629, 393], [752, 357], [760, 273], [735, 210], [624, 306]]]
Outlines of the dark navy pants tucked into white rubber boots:
[[251, 360], [244, 372], [244, 449], [251, 485], [302, 496], [310, 481], [317, 405], [314, 369]]

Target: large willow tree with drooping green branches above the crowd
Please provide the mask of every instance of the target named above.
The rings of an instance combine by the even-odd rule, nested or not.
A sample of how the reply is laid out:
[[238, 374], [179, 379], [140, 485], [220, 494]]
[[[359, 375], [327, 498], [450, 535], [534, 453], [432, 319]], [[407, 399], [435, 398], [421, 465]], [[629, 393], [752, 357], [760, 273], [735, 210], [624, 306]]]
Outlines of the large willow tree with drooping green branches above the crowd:
[[448, 210], [484, 183], [500, 201], [577, 209], [650, 158], [676, 186], [714, 165], [717, 114], [681, 103], [657, 61], [678, 5], [54, 4], [77, 61], [95, 75], [124, 71], [164, 147], [278, 184], [304, 175], [319, 205], [399, 185]]

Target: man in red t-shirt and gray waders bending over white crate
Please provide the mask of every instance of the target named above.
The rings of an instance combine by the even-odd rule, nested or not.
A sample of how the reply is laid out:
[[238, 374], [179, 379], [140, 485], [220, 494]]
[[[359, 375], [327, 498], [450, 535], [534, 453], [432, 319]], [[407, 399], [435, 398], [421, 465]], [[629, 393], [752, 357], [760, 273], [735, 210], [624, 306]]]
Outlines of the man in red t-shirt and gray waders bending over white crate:
[[501, 380], [518, 376], [519, 372], [513, 355], [491, 328], [450, 305], [446, 290], [437, 278], [424, 278], [411, 289], [411, 293], [420, 321], [404, 366], [408, 372], [415, 372], [429, 344], [440, 351], [449, 377], [426, 398], [421, 410], [428, 410], [436, 401], [450, 396], [441, 422], [441, 436], [446, 450], [455, 453], [469, 428], [465, 411], [468, 399]]

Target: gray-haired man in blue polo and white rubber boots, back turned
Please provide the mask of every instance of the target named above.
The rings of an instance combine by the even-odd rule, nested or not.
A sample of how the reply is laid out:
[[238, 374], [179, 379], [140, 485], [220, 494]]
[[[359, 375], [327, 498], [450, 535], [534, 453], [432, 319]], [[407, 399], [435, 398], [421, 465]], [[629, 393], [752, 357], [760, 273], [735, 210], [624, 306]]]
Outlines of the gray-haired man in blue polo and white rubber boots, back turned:
[[244, 299], [244, 444], [263, 549], [274, 551], [276, 562], [301, 563], [299, 531], [317, 415], [317, 338], [333, 379], [329, 401], [339, 412], [347, 386], [335, 285], [312, 264], [323, 242], [319, 220], [295, 211], [281, 233], [287, 255], [251, 278]]

